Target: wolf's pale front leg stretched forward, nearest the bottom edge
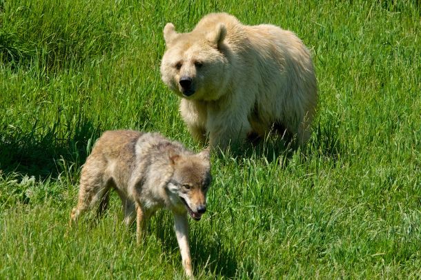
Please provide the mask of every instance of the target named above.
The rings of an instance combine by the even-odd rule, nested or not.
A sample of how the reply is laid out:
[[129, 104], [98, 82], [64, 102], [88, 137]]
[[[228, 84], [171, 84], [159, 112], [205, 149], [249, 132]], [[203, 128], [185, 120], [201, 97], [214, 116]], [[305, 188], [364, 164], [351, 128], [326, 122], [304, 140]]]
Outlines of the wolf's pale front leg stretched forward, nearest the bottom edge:
[[193, 277], [190, 248], [188, 247], [188, 221], [186, 214], [174, 214], [174, 230], [182, 254], [184, 271], [188, 277]]

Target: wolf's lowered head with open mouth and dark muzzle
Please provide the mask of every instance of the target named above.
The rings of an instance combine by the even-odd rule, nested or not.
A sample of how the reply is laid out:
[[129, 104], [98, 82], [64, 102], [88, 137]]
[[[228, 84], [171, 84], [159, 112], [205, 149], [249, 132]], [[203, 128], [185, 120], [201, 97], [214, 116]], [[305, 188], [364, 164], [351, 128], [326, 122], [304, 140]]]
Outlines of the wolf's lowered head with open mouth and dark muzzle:
[[199, 221], [206, 211], [206, 192], [212, 181], [209, 150], [198, 154], [170, 154], [174, 167], [168, 190], [184, 204], [190, 217]]

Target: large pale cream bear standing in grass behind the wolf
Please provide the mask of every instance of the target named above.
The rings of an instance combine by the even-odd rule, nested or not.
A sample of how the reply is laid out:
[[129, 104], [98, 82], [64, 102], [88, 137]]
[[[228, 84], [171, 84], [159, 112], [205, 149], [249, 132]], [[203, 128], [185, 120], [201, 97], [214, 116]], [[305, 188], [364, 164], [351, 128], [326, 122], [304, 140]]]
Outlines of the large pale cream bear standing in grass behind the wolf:
[[181, 97], [192, 137], [228, 146], [283, 128], [296, 146], [311, 136], [317, 106], [313, 61], [291, 31], [246, 26], [231, 14], [211, 13], [193, 31], [164, 27], [161, 79]]

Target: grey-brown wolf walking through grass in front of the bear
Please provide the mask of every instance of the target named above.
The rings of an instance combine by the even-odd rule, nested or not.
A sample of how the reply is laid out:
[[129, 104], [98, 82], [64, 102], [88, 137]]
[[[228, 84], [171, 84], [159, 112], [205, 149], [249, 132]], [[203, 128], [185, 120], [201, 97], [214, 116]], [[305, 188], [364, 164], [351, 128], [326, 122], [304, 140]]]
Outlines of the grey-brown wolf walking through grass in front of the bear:
[[148, 218], [166, 208], [174, 214], [184, 271], [192, 277], [187, 213], [199, 221], [206, 211], [212, 181], [209, 152], [207, 148], [195, 154], [157, 132], [104, 132], [81, 170], [79, 199], [70, 213], [70, 226], [97, 203], [100, 217], [114, 189], [123, 203], [124, 222], [130, 225], [137, 218], [140, 243]]

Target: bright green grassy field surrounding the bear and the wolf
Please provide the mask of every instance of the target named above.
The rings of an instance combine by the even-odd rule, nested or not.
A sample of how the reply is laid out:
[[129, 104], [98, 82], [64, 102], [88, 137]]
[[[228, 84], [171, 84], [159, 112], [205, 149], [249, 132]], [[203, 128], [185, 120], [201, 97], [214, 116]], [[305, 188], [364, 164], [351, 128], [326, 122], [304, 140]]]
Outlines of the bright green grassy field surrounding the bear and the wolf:
[[68, 232], [81, 165], [102, 131], [158, 130], [199, 150], [159, 77], [162, 29], [208, 12], [293, 30], [320, 103], [306, 148], [268, 139], [213, 157], [190, 221], [198, 279], [421, 277], [419, 1], [0, 1], [0, 279], [173, 279], [168, 212], [144, 246], [104, 219]]

